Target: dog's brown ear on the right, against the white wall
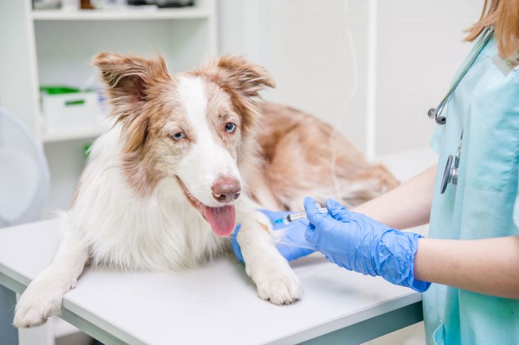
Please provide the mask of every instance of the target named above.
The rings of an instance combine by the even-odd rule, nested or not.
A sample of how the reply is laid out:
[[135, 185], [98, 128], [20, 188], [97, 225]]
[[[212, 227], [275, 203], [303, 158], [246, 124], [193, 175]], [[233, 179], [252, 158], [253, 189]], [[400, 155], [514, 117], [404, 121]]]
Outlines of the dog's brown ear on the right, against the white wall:
[[259, 97], [266, 87], [275, 87], [274, 80], [263, 66], [249, 62], [242, 55], [223, 55], [215, 61], [221, 83], [245, 97]]

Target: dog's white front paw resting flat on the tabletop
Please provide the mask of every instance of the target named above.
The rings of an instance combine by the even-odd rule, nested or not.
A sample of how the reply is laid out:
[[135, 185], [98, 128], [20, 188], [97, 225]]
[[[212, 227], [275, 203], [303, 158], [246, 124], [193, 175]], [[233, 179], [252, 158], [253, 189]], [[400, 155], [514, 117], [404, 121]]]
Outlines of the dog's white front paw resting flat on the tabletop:
[[286, 262], [276, 265], [259, 265], [251, 270], [256, 283], [257, 295], [273, 304], [292, 304], [301, 298], [298, 277]]

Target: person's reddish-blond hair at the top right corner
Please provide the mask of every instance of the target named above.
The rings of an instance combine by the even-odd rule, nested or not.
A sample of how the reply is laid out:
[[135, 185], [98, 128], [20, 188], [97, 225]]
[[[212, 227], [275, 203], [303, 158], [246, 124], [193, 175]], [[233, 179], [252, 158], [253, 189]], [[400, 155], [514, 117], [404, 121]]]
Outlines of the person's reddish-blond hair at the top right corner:
[[501, 57], [509, 57], [519, 46], [519, 0], [485, 0], [480, 20], [468, 28], [466, 41], [473, 41], [486, 26], [494, 26]]

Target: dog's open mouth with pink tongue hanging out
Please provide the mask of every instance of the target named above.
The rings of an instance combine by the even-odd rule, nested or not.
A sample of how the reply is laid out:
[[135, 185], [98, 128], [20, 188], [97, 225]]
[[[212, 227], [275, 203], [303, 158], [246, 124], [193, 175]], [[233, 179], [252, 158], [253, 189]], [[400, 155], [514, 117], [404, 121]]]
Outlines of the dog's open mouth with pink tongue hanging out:
[[188, 198], [191, 205], [199, 210], [200, 214], [203, 216], [203, 218], [206, 219], [215, 234], [224, 237], [230, 235], [230, 233], [233, 232], [236, 223], [236, 212], [234, 205], [224, 205], [219, 207], [210, 207], [208, 205], [204, 205], [198, 201], [197, 198], [192, 196], [192, 194], [189, 192], [189, 189], [185, 187], [179, 176], [176, 176], [176, 180], [178, 180], [179, 184], [182, 186], [185, 197]]

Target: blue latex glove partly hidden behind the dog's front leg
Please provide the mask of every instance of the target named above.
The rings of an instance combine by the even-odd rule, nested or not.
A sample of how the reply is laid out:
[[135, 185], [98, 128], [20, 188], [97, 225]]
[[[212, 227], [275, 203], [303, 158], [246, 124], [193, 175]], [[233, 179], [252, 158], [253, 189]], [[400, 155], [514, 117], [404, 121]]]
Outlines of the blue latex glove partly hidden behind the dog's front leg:
[[[268, 211], [268, 209], [260, 209], [268, 219], [273, 222], [279, 218], [282, 218], [288, 214], [293, 212], [274, 212]], [[304, 239], [304, 232], [307, 230], [308, 221], [306, 219], [301, 219], [300, 221], [293, 221], [289, 225], [274, 224], [273, 230], [283, 230], [284, 233], [281, 236], [283, 242], [294, 243], [294, 245], [286, 244], [286, 243], [278, 243], [276, 245], [277, 250], [280, 251], [282, 256], [287, 261], [293, 261], [295, 259], [299, 259], [300, 257], [305, 257], [308, 254], [311, 254], [317, 250], [315, 245], [308, 243], [306, 239]], [[233, 252], [237, 259], [244, 263], [244, 257], [242, 257], [242, 250], [239, 248], [239, 244], [237, 241], [237, 234], [241, 229], [242, 225], [237, 225], [235, 231], [233, 232]], [[300, 248], [298, 245], [302, 245], [303, 247], [316, 248], [314, 250], [308, 248]]]

